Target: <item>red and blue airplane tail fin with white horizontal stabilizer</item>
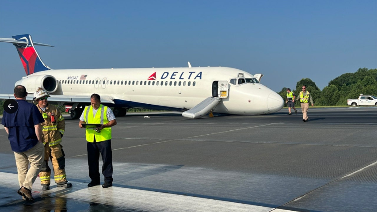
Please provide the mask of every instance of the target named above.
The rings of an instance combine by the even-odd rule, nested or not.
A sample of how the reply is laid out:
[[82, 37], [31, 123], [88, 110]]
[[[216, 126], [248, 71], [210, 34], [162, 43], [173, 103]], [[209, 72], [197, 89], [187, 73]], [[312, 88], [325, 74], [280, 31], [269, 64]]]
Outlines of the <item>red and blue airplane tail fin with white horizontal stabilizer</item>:
[[[12, 38], [0, 38], [0, 42], [13, 43], [16, 47], [18, 55], [22, 65], [25, 69], [26, 75], [33, 74], [39, 71], [51, 70], [50, 67], [46, 66], [38, 55], [37, 50], [35, 50], [34, 45], [38, 46], [51, 46], [44, 43], [34, 43], [31, 39], [31, 35], [15, 35]], [[54, 46], [51, 46], [54, 47]]]

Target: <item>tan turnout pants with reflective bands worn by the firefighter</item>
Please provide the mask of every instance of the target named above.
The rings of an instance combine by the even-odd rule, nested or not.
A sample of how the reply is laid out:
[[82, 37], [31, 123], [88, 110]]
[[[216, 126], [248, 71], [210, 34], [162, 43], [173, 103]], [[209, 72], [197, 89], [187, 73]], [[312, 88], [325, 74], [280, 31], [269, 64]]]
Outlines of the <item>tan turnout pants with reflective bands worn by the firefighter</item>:
[[55, 183], [67, 183], [66, 170], [64, 169], [66, 160], [64, 156], [63, 146], [60, 144], [49, 146], [49, 144], [46, 143], [44, 145], [44, 163], [41, 172], [39, 172], [41, 185], [50, 184], [51, 169], [48, 166], [49, 158], [51, 159], [52, 167], [54, 168]]

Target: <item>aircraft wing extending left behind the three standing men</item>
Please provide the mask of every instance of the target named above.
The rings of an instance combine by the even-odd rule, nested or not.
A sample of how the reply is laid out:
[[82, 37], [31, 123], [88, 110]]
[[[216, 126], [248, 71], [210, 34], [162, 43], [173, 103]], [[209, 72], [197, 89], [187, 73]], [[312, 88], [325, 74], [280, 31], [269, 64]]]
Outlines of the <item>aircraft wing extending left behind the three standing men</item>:
[[[27, 101], [33, 101], [33, 96], [28, 95], [26, 97]], [[15, 99], [13, 94], [0, 94], [0, 99], [1, 100], [7, 100], [7, 99]], [[68, 95], [50, 95], [48, 98], [48, 102], [51, 104], [59, 104], [59, 105], [64, 105], [64, 104], [72, 104], [72, 103], [89, 103], [90, 104], [90, 95], [73, 95], [73, 96], [68, 96]], [[101, 96], [101, 103], [109, 103], [109, 104], [114, 104], [113, 97], [111, 96], [106, 96], [103, 95]]]

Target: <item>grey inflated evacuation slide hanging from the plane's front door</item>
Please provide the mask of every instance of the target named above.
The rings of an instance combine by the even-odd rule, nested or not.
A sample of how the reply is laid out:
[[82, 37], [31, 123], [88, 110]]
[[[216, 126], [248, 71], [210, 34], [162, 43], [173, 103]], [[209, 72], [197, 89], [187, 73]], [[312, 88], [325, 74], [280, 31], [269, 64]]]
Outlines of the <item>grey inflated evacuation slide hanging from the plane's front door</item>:
[[182, 113], [186, 118], [200, 118], [210, 112], [213, 108], [220, 103], [221, 99], [219, 97], [208, 97], [201, 103], [197, 104], [195, 107], [189, 109]]

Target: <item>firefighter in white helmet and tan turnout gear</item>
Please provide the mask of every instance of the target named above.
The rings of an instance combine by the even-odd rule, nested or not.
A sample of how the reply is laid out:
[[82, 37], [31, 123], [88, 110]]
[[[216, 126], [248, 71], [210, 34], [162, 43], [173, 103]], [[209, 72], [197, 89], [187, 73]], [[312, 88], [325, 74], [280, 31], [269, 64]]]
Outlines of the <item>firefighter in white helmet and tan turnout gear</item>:
[[72, 183], [67, 183], [65, 167], [65, 158], [63, 147], [61, 146], [61, 137], [64, 135], [66, 123], [63, 115], [57, 107], [48, 103], [47, 98], [50, 95], [43, 89], [38, 88], [34, 93], [34, 101], [41, 112], [44, 122], [42, 123], [43, 145], [44, 145], [44, 163], [39, 173], [42, 190], [50, 189], [51, 169], [48, 166], [49, 158], [54, 168], [54, 180], [57, 187], [72, 187]]

